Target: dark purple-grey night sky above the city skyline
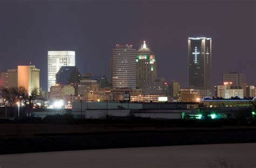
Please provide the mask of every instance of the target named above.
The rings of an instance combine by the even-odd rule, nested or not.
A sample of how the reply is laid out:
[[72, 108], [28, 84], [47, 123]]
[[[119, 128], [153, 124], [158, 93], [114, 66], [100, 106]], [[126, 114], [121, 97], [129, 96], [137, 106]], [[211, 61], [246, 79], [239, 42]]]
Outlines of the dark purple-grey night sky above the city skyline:
[[156, 54], [158, 77], [188, 85], [187, 38], [212, 38], [212, 85], [240, 72], [256, 85], [255, 1], [0, 0], [0, 72], [33, 65], [47, 87], [47, 52], [76, 51], [82, 74], [110, 74], [115, 44], [143, 40]]

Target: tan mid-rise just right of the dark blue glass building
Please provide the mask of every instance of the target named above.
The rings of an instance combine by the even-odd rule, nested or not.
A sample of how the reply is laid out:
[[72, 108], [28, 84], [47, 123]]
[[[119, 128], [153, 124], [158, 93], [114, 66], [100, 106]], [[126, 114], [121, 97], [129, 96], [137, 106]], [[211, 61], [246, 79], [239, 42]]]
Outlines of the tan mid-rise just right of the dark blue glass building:
[[97, 92], [99, 90], [99, 83], [97, 80], [80, 80], [77, 85], [77, 94], [79, 96], [87, 97], [90, 93]]

